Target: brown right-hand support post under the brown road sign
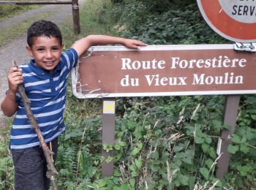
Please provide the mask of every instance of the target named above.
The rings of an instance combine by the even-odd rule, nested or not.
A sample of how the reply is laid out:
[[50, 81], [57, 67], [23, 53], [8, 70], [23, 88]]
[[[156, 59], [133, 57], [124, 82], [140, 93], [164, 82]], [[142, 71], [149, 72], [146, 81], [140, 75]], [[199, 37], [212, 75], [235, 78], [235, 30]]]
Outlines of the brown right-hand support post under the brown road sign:
[[224, 178], [227, 172], [230, 153], [227, 151], [228, 145], [231, 144], [230, 137], [235, 132], [236, 118], [238, 115], [238, 106], [240, 101], [240, 95], [228, 95], [225, 100], [225, 111], [224, 111], [224, 125], [229, 125], [230, 129], [222, 130], [221, 138], [219, 139], [217, 153], [222, 153], [217, 163], [217, 178]]

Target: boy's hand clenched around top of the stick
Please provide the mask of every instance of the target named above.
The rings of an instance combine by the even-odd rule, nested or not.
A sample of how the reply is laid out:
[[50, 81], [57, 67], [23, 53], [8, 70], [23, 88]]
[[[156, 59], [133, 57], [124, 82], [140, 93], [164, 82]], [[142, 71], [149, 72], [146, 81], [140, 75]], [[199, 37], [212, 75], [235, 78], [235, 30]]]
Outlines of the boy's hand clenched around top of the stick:
[[15, 93], [19, 84], [23, 83], [23, 76], [21, 69], [12, 67], [8, 73], [9, 90]]

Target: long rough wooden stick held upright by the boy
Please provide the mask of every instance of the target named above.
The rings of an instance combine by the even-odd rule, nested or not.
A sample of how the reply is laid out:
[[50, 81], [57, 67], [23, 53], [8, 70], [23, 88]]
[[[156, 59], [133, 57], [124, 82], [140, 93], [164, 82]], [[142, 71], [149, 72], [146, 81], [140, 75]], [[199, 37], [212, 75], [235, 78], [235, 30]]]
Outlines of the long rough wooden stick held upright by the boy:
[[[15, 61], [12, 61], [12, 64], [13, 64], [13, 66], [16, 66], [18, 68], [18, 65], [16, 64]], [[54, 153], [53, 153], [53, 151], [50, 151], [50, 149], [46, 145], [44, 137], [42, 137], [42, 133], [41, 133], [41, 130], [39, 129], [37, 120], [36, 120], [36, 118], [34, 118], [34, 114], [31, 111], [29, 98], [28, 98], [28, 96], [26, 96], [26, 93], [25, 93], [25, 90], [24, 90], [22, 84], [18, 85], [17, 91], [20, 94], [21, 99], [23, 101], [24, 108], [26, 110], [26, 115], [29, 118], [29, 123], [31, 124], [31, 128], [33, 128], [35, 130], [35, 132], [37, 133], [37, 137], [39, 138], [39, 142], [42, 146], [42, 150], [44, 151], [45, 159], [47, 161], [47, 168], [48, 168], [46, 175], [50, 179], [53, 189], [57, 190], [58, 186], [56, 183], [55, 175], [58, 175], [59, 173], [57, 172], [56, 168], [54, 167], [53, 159], [51, 159], [51, 156], [53, 156]]]

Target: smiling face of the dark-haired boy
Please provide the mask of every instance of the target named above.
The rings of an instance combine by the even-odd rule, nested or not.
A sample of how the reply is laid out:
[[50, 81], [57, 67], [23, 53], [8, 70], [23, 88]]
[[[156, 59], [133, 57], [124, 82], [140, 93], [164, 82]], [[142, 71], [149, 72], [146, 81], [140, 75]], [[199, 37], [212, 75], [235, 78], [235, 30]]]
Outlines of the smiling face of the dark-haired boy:
[[53, 72], [61, 60], [63, 45], [55, 37], [35, 37], [32, 47], [26, 46], [30, 56], [34, 57], [36, 65]]

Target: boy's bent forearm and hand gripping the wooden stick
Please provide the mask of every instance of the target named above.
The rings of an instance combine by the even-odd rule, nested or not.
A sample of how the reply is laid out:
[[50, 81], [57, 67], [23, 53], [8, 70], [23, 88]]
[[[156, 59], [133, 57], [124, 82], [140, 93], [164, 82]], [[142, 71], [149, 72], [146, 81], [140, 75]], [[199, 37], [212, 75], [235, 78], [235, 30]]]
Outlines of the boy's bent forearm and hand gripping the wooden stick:
[[23, 83], [23, 77], [21, 70], [12, 67], [8, 74], [8, 83], [9, 83], [9, 90], [4, 98], [4, 101], [1, 102], [1, 110], [3, 111], [4, 115], [10, 117], [14, 115], [18, 109], [18, 104], [16, 102], [16, 91], [18, 84]]

